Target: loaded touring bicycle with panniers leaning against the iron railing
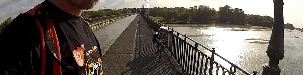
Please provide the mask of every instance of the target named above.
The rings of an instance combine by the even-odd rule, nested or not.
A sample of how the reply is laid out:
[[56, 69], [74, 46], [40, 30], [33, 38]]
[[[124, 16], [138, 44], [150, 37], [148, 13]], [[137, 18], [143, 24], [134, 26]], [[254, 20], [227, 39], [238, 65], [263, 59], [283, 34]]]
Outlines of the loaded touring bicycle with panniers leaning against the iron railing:
[[155, 29], [153, 35], [153, 43], [156, 43], [158, 47], [159, 63], [161, 62], [161, 57], [165, 51], [165, 44], [168, 41], [168, 32], [169, 29], [167, 27], [161, 26], [159, 29]]

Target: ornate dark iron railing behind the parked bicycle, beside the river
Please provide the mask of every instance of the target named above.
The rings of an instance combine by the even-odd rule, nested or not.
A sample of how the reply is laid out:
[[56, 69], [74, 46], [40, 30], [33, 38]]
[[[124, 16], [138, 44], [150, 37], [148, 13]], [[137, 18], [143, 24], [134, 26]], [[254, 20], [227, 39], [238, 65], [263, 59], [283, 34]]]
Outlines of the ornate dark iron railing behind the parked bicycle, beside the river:
[[[159, 29], [161, 26], [168, 27], [161, 22], [156, 21], [155, 19], [151, 19], [145, 15], [142, 15], [147, 22], [148, 26], [150, 26], [153, 30]], [[208, 47], [198, 43], [197, 41], [189, 38], [186, 34], [181, 34], [177, 32], [173, 28], [168, 27], [171, 29], [172, 32], [169, 32], [168, 36], [168, 44], [166, 44], [167, 49], [171, 54], [174, 56], [180, 67], [182, 67], [183, 72], [188, 75], [238, 75], [238, 74], [246, 74], [246, 75], [256, 75], [257, 71], [253, 71], [253, 74], [247, 72], [238, 65], [228, 61], [227, 59], [223, 58], [222, 56], [218, 55], [215, 52], [215, 48], [209, 49]], [[174, 34], [176, 33], [176, 35]], [[183, 36], [184, 40], [181, 39], [179, 36]], [[194, 46], [189, 44], [186, 40], [190, 40], [194, 42]], [[211, 52], [211, 56], [205, 54], [201, 50], [198, 49], [198, 46], [201, 46], [208, 51]], [[230, 69], [222, 66], [217, 61], [214, 60], [214, 57], [218, 56], [221, 59], [228, 62], [231, 66]], [[215, 67], [214, 67], [215, 66]], [[221, 68], [221, 69], [220, 69]], [[220, 71], [221, 70], [221, 71]], [[237, 72], [237, 70], [240, 70]]]

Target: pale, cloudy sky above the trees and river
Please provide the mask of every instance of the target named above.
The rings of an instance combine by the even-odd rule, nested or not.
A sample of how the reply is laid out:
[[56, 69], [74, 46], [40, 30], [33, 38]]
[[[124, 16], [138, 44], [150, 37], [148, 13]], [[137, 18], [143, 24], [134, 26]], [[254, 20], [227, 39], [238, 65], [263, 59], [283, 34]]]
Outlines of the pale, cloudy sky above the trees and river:
[[[8, 17], [15, 18], [20, 13], [32, 9], [44, 0], [0, 0], [0, 22]], [[284, 0], [284, 23], [291, 23], [294, 27], [303, 28], [303, 0]], [[274, 16], [273, 0], [150, 0], [149, 5], [144, 0], [100, 0], [95, 7], [90, 9], [99, 10], [105, 6], [106, 9], [123, 9], [136, 7], [141, 8], [142, 4], [146, 8], [152, 7], [193, 7], [195, 5], [206, 5], [215, 8], [224, 5], [239, 8], [245, 14], [255, 14], [261, 16]]]

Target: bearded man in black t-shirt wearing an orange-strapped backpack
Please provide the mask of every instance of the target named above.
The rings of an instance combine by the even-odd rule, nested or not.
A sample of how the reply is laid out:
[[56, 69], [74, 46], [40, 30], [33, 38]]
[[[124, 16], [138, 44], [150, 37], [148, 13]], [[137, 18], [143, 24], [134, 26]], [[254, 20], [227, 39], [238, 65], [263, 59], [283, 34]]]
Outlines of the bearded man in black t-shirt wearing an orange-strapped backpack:
[[[0, 33], [1, 75], [102, 75], [100, 45], [81, 13], [98, 0], [45, 0]], [[40, 7], [50, 17], [40, 16]], [[36, 13], [36, 14], [31, 14]], [[53, 21], [48, 22], [52, 19]], [[37, 20], [39, 19], [39, 20]], [[47, 27], [47, 29], [41, 29]], [[48, 32], [45, 32], [48, 31]], [[52, 36], [52, 43], [45, 35]], [[52, 50], [51, 50], [52, 49]], [[55, 51], [55, 53], [53, 52]], [[52, 55], [52, 54], [54, 55]]]

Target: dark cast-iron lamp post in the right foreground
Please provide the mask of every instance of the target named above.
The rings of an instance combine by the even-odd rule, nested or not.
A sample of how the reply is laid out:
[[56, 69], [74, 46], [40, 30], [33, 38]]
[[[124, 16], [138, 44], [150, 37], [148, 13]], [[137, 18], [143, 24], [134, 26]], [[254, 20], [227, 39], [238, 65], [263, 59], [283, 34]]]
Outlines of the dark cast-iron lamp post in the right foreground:
[[274, 0], [275, 13], [272, 32], [266, 53], [269, 61], [263, 64], [263, 75], [280, 75], [279, 61], [284, 58], [283, 0]]

